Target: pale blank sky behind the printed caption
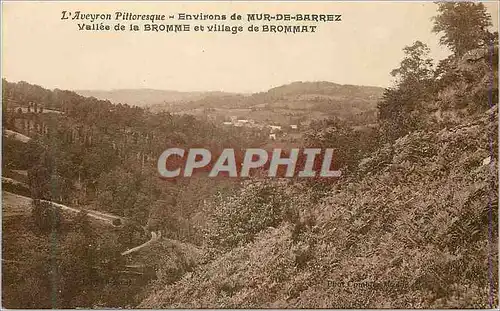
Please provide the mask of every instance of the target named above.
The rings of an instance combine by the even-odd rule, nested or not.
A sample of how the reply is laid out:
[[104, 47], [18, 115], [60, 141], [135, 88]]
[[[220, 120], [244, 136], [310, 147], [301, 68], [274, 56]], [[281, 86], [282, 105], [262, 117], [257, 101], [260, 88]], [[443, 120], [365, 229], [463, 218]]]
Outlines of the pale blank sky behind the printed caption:
[[[486, 5], [498, 29], [498, 3]], [[431, 32], [436, 7], [432, 2], [3, 2], [2, 77], [70, 90], [250, 93], [294, 81], [386, 87], [402, 48], [415, 40], [426, 43], [436, 60], [449, 54]], [[89, 21], [62, 20], [62, 11], [239, 13], [243, 21], [218, 23], [241, 24], [245, 31], [79, 31], [78, 23]], [[341, 14], [342, 21], [305, 23], [317, 25], [315, 33], [250, 33], [247, 13]]]

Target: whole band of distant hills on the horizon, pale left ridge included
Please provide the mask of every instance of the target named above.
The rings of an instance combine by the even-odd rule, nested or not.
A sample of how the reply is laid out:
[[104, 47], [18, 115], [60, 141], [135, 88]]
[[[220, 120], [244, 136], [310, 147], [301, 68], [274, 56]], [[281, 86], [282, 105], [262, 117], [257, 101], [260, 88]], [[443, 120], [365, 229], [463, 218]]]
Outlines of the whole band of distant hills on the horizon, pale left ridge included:
[[154, 89], [76, 92], [115, 104], [149, 107], [156, 112], [211, 116], [219, 120], [236, 116], [285, 125], [329, 117], [353, 120], [354, 123], [373, 123], [377, 101], [383, 91], [380, 87], [318, 81], [293, 82], [254, 94]]

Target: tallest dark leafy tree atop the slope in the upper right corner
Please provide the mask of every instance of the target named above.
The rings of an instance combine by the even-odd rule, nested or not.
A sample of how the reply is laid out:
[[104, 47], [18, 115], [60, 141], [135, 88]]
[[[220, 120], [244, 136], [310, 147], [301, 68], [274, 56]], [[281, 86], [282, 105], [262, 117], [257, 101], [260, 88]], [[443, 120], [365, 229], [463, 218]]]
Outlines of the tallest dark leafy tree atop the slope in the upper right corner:
[[441, 2], [437, 3], [439, 14], [433, 17], [435, 33], [443, 33], [439, 42], [447, 46], [456, 56], [479, 48], [493, 39], [488, 31], [491, 15], [483, 3]]

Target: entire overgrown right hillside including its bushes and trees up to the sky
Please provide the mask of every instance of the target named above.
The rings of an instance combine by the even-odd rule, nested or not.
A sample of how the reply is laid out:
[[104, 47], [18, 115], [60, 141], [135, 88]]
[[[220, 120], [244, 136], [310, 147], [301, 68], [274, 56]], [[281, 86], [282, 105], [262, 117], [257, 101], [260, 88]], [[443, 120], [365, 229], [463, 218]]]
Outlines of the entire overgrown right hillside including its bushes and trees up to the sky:
[[220, 196], [207, 238], [222, 254], [141, 307], [498, 308], [488, 20], [482, 4], [439, 4], [433, 31], [454, 55], [435, 70], [422, 42], [404, 48], [379, 104], [379, 146], [364, 149], [367, 135], [338, 120], [309, 133], [343, 148], [338, 160], [354, 174], [314, 203], [275, 180]]

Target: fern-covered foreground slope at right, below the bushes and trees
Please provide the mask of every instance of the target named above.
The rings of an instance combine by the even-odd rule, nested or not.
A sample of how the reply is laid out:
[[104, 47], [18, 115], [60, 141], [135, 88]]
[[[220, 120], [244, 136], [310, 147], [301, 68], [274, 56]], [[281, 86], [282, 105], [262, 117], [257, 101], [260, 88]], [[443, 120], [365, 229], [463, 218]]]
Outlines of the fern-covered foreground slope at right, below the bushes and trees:
[[482, 161], [497, 126], [484, 114], [385, 146], [362, 162], [362, 179], [315, 207], [314, 227], [261, 232], [140, 307], [488, 307], [488, 198], [497, 280], [498, 185], [496, 160]]

